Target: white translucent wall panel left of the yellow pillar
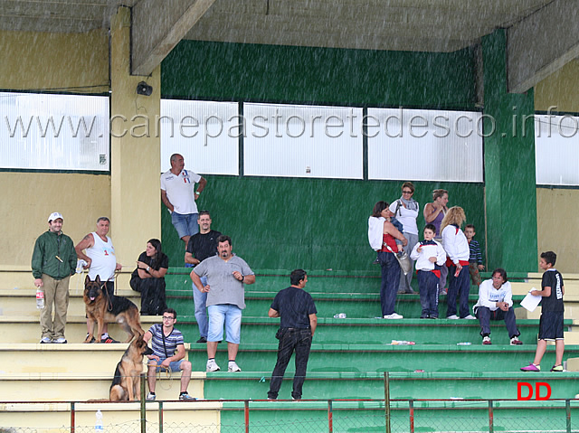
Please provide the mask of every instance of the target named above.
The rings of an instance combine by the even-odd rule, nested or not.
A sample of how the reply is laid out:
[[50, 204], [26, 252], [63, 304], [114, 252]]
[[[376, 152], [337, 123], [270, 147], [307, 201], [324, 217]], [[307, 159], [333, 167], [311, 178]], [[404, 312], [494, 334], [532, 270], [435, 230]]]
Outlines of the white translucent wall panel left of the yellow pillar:
[[109, 171], [109, 98], [0, 92], [0, 167]]

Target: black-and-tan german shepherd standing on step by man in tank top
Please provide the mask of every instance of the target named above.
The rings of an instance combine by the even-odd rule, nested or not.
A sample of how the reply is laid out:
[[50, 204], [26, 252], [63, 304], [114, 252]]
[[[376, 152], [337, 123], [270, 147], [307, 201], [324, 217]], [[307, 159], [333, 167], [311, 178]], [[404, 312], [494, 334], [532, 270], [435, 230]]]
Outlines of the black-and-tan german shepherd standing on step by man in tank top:
[[[89, 319], [90, 332], [84, 343], [90, 343], [93, 339], [94, 325], [99, 325], [96, 343], [100, 343], [102, 328], [105, 324], [117, 322], [128, 333], [128, 339], [125, 343], [130, 342], [135, 335], [143, 335], [145, 331], [141, 327], [140, 315], [135, 304], [126, 297], [113, 297], [108, 299], [107, 294], [102, 289], [103, 284], [100, 277], [91, 281], [89, 276], [84, 280], [84, 304], [86, 305], [87, 317]], [[112, 305], [109, 311], [108, 304]]]

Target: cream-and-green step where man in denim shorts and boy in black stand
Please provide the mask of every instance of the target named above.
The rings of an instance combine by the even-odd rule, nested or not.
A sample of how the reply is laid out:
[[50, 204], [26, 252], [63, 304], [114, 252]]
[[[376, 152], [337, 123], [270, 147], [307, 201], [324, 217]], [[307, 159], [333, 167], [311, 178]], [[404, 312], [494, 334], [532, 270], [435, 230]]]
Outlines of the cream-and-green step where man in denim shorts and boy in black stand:
[[[0, 344], [6, 373], [110, 374], [124, 353], [125, 344]], [[216, 362], [226, 368], [227, 346], [219, 344]], [[555, 362], [555, 348], [548, 346], [543, 365]], [[90, 353], [90, 355], [88, 355]], [[533, 360], [535, 345], [456, 344], [312, 344], [308, 372], [518, 372]], [[566, 360], [579, 356], [579, 346], [565, 346]], [[241, 344], [237, 357], [243, 372], [271, 372], [277, 358], [277, 344]], [[207, 360], [204, 344], [193, 344], [188, 359], [194, 372], [204, 372]], [[499, 367], [495, 367], [498, 365]], [[293, 371], [293, 362], [288, 371]], [[230, 373], [220, 372], [228, 375]]]

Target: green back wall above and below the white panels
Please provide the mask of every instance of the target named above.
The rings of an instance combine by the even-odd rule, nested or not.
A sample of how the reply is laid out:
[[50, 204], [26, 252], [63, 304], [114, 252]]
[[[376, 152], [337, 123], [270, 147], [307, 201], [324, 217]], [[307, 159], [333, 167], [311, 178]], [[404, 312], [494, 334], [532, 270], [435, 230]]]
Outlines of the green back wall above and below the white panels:
[[[163, 61], [164, 98], [472, 109], [474, 57], [452, 53], [373, 52], [182, 41]], [[402, 182], [205, 176], [198, 202], [214, 229], [252, 268], [375, 269], [367, 218], [375, 202], [400, 196]], [[402, 179], [404, 181], [407, 179]], [[423, 205], [445, 188], [465, 208], [484, 246], [482, 184], [417, 183]], [[422, 228], [424, 221], [419, 218]], [[164, 250], [183, 264], [168, 212]]]

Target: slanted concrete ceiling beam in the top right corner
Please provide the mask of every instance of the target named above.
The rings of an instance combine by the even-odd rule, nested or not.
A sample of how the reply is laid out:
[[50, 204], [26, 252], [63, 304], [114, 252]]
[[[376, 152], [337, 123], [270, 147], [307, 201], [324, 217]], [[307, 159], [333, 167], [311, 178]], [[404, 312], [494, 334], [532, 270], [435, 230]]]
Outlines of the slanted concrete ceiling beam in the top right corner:
[[507, 30], [507, 89], [522, 93], [579, 56], [576, 0], [555, 0]]

